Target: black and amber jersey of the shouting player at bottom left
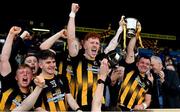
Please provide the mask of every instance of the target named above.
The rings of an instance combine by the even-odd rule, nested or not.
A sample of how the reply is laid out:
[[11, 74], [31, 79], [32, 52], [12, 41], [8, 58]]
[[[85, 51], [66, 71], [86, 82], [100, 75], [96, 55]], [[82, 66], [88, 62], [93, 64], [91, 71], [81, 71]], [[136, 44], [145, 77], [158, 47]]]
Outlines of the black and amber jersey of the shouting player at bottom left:
[[[1, 94], [0, 94], [0, 111], [10, 111], [21, 104], [21, 102], [32, 91], [29, 89], [28, 93], [22, 93], [19, 86], [14, 79], [13, 72], [6, 77], [1, 77]], [[31, 87], [31, 86], [30, 86]], [[33, 89], [33, 87], [32, 87]]]

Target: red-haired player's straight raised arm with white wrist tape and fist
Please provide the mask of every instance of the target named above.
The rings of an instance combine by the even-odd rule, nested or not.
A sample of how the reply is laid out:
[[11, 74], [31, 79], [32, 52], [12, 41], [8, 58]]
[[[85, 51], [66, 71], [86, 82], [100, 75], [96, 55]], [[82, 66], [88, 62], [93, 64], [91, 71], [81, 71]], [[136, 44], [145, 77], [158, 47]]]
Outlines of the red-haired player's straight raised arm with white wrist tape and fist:
[[77, 11], [79, 10], [79, 5], [77, 3], [72, 3], [71, 5], [71, 13], [69, 14], [69, 21], [67, 25], [68, 31], [68, 50], [69, 54], [72, 57], [77, 56], [79, 52], [79, 41], [75, 35], [75, 16]]

